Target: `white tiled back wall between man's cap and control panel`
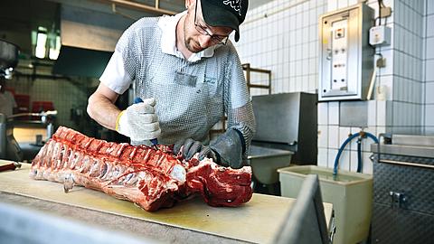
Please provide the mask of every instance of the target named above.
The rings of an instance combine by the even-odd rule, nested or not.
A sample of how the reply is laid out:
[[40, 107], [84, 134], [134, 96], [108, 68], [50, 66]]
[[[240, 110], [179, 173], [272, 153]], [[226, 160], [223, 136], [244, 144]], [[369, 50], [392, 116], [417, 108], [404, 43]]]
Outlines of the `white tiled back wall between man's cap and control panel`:
[[[249, 10], [235, 46], [241, 62], [272, 71], [272, 93], [317, 89], [317, 19], [326, 0], [275, 0]], [[266, 17], [267, 16], [267, 17]], [[267, 84], [267, 77], [251, 77]], [[251, 95], [265, 94], [252, 89]]]

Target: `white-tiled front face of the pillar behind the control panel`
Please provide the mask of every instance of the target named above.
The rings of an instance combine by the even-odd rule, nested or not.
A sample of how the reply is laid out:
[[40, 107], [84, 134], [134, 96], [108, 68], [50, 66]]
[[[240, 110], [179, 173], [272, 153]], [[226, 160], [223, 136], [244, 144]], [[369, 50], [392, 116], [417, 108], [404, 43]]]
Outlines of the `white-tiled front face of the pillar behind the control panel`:
[[[347, 7], [349, 5], [357, 4], [357, 1], [347, 1], [347, 0], [328, 0], [326, 9], [328, 11], [334, 11], [339, 8]], [[385, 5], [392, 6], [393, 1], [384, 1]], [[378, 9], [377, 1], [369, 1], [368, 5], [374, 9]], [[378, 11], [376, 11], [378, 13]], [[384, 22], [382, 22], [384, 23]], [[387, 25], [392, 28], [393, 34], [393, 16], [387, 19]], [[376, 52], [381, 52], [382, 56], [386, 59], [386, 67], [377, 71], [377, 85], [381, 89], [376, 89], [376, 93], [381, 91], [384, 94], [383, 100], [371, 100], [367, 101], [368, 106], [368, 127], [363, 128], [363, 131], [369, 132], [374, 136], [378, 133], [385, 132], [386, 128], [390, 129], [393, 124], [392, 117], [392, 105], [390, 100], [393, 99], [396, 93], [393, 88], [393, 80], [396, 77], [393, 65], [394, 59], [396, 59], [395, 52], [393, 50], [393, 40], [391, 46], [378, 48]], [[339, 113], [340, 102], [322, 102], [318, 104], [318, 130], [324, 130], [327, 128], [328, 140], [325, 144], [325, 139], [320, 138], [318, 140], [318, 164], [327, 165], [328, 167], [333, 167], [335, 164], [335, 156], [337, 154], [337, 149], [343, 145], [344, 141], [349, 135], [360, 132], [362, 128], [360, 127], [340, 127], [339, 117], [344, 116]], [[363, 139], [362, 150], [363, 150], [363, 173], [372, 174], [373, 163], [369, 159], [370, 145], [373, 140], [370, 138]], [[319, 154], [327, 152], [327, 156], [320, 156]], [[326, 163], [319, 162], [319, 160], [327, 160]], [[354, 139], [351, 143], [345, 146], [344, 152], [339, 160], [339, 168], [344, 170], [357, 170], [357, 143]]]

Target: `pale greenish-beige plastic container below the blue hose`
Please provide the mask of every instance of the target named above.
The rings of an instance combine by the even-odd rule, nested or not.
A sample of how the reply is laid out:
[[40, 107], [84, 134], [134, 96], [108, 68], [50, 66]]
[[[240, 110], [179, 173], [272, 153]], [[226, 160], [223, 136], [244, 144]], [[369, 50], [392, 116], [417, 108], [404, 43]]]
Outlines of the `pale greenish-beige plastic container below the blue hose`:
[[333, 204], [336, 232], [334, 244], [353, 244], [368, 238], [373, 208], [373, 176], [339, 171], [336, 180], [333, 169], [316, 165], [278, 169], [281, 193], [297, 198], [307, 174], [317, 174], [323, 202]]

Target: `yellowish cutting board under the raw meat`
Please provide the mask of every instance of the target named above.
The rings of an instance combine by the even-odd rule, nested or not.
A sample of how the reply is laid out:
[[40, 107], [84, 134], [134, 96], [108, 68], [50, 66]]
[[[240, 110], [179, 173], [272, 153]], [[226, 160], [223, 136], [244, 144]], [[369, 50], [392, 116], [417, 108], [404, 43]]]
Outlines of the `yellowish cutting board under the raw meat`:
[[[5, 162], [0, 160], [0, 164]], [[132, 202], [79, 186], [64, 193], [61, 183], [33, 180], [29, 172], [30, 164], [23, 164], [21, 169], [0, 173], [0, 191], [259, 243], [271, 242], [295, 202], [291, 198], [253, 193], [250, 202], [236, 208], [211, 207], [196, 197], [170, 209], [148, 212]], [[326, 220], [330, 220], [332, 206], [324, 204]]]

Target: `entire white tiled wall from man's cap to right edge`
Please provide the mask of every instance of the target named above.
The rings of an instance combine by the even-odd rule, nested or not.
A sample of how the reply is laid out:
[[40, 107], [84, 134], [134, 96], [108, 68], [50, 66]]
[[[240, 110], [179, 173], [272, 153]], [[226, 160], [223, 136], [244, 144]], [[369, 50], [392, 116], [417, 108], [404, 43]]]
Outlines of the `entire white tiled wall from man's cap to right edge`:
[[[236, 44], [241, 61], [272, 70], [272, 93], [316, 91], [318, 16], [357, 2], [275, 0], [250, 11], [241, 25], [241, 42]], [[375, 136], [385, 132], [434, 134], [434, 0], [383, 3], [392, 7], [392, 16], [382, 20], [392, 29], [392, 44], [376, 49], [386, 59], [386, 67], [377, 71], [375, 99], [366, 102], [368, 127], [363, 130]], [[378, 15], [378, 2], [369, 0], [368, 5]], [[318, 165], [333, 167], [339, 146], [350, 133], [361, 130], [339, 126], [339, 117], [344, 116], [339, 106], [339, 102], [318, 104]], [[372, 143], [363, 140], [366, 174], [373, 171], [369, 160]], [[356, 170], [356, 148], [355, 140], [345, 147], [341, 169]]]

